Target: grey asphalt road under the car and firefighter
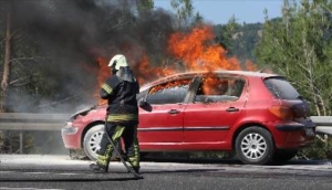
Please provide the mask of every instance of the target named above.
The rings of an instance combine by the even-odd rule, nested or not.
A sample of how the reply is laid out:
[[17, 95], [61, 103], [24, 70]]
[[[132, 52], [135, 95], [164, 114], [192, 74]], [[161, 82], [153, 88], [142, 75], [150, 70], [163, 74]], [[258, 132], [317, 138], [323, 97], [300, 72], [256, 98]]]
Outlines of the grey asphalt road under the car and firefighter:
[[248, 166], [236, 160], [166, 160], [142, 162], [144, 179], [112, 162], [108, 173], [94, 173], [90, 160], [69, 156], [0, 155], [1, 189], [332, 189], [330, 160], [292, 160], [282, 166]]

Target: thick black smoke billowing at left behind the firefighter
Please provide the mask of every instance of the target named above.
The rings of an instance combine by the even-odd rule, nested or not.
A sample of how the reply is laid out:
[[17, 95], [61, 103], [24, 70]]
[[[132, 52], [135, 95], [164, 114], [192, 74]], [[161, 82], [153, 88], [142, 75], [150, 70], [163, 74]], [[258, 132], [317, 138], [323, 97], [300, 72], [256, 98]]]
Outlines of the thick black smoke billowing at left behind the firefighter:
[[[59, 106], [73, 112], [95, 103], [97, 57], [122, 53], [133, 67], [144, 54], [159, 61], [174, 32], [170, 13], [138, 10], [133, 0], [1, 0], [0, 6], [11, 2], [18, 31], [13, 56], [34, 57], [20, 61], [12, 75], [30, 80], [29, 91], [11, 89], [8, 106], [13, 112], [52, 112]], [[139, 71], [134, 72], [139, 77]]]

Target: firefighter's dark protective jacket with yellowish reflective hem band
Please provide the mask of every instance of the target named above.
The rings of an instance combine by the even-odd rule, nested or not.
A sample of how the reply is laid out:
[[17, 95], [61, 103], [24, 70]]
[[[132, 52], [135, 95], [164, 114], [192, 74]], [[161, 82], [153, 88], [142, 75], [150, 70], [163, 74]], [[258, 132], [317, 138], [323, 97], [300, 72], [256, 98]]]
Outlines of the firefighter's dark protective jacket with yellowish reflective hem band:
[[100, 93], [108, 102], [107, 122], [116, 125], [138, 124], [138, 92], [139, 85], [128, 66], [120, 67], [115, 75], [107, 78]]

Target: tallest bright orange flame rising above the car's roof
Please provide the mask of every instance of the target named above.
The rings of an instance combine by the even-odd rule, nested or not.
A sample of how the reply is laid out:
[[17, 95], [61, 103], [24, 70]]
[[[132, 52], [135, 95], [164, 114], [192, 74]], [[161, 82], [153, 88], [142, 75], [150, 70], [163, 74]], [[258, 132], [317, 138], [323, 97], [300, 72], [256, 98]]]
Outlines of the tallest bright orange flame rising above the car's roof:
[[212, 41], [211, 27], [195, 28], [188, 34], [173, 34], [168, 52], [181, 60], [189, 71], [240, 70], [238, 61], [228, 60], [225, 49]]

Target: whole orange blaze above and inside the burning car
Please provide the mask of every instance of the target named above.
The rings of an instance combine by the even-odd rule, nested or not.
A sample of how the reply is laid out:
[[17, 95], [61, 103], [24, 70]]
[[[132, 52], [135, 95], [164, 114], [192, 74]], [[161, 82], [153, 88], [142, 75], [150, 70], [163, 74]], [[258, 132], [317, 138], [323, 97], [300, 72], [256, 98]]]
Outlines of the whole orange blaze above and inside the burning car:
[[[149, 64], [147, 53], [145, 53], [142, 48], [136, 49], [137, 51], [142, 52], [141, 59], [138, 61], [136, 59], [136, 63], [132, 63], [133, 65], [131, 66], [134, 72], [136, 72], [135, 75], [138, 76], [137, 80], [141, 85], [163, 76], [175, 74], [179, 72], [179, 70], [209, 72], [216, 70], [241, 70], [239, 61], [236, 57], [227, 57], [227, 51], [222, 46], [220, 46], [220, 44], [215, 43], [214, 38], [215, 34], [212, 32], [212, 27], [206, 25], [194, 28], [188, 33], [176, 32], [168, 39], [168, 46], [166, 52], [168, 54], [168, 57], [163, 57], [164, 60], [162, 61], [162, 66], [152, 66]], [[134, 49], [133, 45], [129, 46], [131, 50]], [[131, 57], [131, 53], [127, 53], [127, 56]], [[98, 94], [102, 83], [110, 76], [107, 61], [108, 60], [103, 57], [97, 59], [100, 73], [97, 77], [98, 87], [96, 94]], [[255, 65], [248, 61], [246, 63], [246, 66], [249, 70], [256, 68]], [[214, 78], [216, 77], [206, 78], [206, 83], [210, 84], [208, 86], [216, 86], [218, 85], [218, 83], [220, 83], [220, 80], [216, 81]], [[185, 83], [186, 81], [184, 81], [183, 84], [185, 85]], [[162, 87], [172, 87], [172, 85], [176, 84], [169, 83], [169, 85]], [[156, 87], [151, 93], [154, 93], [159, 88]], [[211, 87], [205, 88], [203, 91], [207, 91], [207, 93], [209, 93], [208, 91], [211, 91]], [[100, 101], [100, 104], [101, 103], [102, 101]]]

